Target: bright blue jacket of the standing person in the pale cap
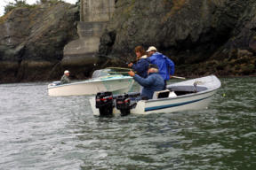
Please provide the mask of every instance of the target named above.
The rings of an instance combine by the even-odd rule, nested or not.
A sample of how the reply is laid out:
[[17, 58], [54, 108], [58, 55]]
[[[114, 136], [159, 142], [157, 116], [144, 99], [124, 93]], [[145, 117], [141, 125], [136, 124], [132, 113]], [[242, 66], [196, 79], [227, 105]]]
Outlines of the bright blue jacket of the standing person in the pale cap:
[[170, 58], [167, 58], [160, 52], [154, 53], [151, 57], [147, 58], [151, 64], [155, 64], [159, 68], [159, 73], [164, 81], [170, 79], [170, 75], [174, 74], [174, 63]]

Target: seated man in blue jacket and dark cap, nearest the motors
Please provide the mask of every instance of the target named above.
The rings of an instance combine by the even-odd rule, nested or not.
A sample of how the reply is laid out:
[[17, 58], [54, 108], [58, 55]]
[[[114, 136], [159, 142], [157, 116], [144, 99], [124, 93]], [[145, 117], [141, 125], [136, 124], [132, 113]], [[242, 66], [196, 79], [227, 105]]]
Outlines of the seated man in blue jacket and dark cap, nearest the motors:
[[143, 86], [142, 92], [140, 94], [141, 99], [151, 99], [155, 91], [160, 91], [164, 89], [164, 79], [158, 73], [158, 66], [149, 65], [148, 66], [148, 77], [142, 78], [140, 75], [130, 71], [129, 75], [133, 77], [141, 86]]

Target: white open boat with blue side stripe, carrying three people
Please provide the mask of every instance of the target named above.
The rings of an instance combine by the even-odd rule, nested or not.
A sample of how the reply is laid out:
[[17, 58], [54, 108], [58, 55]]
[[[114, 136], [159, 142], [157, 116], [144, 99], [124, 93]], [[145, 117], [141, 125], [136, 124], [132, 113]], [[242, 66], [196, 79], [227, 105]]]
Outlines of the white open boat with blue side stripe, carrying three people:
[[[113, 96], [113, 111], [111, 108], [100, 108], [97, 105], [99, 97], [90, 99], [92, 112], [94, 115], [104, 115], [113, 113], [120, 113], [125, 115], [127, 113], [149, 114], [158, 112], [180, 112], [185, 110], [200, 110], [207, 108], [210, 104], [213, 95], [217, 89], [220, 88], [220, 80], [215, 75], [209, 75], [202, 78], [192, 79], [188, 81], [180, 81], [167, 86], [166, 90], [154, 93], [152, 99], [137, 100], [140, 93], [128, 93], [125, 95]], [[108, 94], [108, 97], [110, 95]], [[108, 97], [105, 97], [108, 99]], [[119, 99], [118, 99], [119, 98]], [[123, 98], [123, 101], [120, 100]], [[111, 97], [110, 97], [111, 99]], [[126, 107], [125, 107], [126, 100]], [[110, 101], [110, 100], [109, 100]], [[104, 100], [103, 100], [104, 102]], [[109, 102], [109, 106], [110, 106]], [[126, 110], [125, 110], [126, 109]]]

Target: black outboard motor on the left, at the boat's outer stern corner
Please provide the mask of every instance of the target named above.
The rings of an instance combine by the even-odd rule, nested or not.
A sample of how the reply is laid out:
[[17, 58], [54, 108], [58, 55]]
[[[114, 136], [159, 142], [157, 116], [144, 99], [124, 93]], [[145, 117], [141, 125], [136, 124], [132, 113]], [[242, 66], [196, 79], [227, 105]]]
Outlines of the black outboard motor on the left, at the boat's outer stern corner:
[[100, 116], [109, 116], [113, 113], [113, 95], [112, 92], [99, 92], [96, 97], [96, 108], [100, 111]]

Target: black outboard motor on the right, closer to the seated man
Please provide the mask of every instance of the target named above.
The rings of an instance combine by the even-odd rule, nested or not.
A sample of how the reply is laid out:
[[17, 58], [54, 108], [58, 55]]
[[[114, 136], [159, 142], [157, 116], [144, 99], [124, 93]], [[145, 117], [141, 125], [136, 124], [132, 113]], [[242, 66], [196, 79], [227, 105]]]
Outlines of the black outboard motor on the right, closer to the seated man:
[[121, 116], [130, 114], [131, 108], [131, 99], [128, 94], [116, 97], [116, 109], [120, 110]]

